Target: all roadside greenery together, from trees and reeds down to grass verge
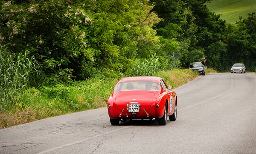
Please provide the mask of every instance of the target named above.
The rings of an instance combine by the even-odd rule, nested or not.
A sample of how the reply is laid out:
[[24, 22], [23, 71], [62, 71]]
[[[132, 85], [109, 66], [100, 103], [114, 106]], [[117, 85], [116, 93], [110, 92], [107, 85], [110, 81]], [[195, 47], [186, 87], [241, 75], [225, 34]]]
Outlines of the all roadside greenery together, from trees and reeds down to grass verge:
[[210, 1], [1, 1], [0, 123], [105, 106], [125, 76], [162, 76], [175, 87], [195, 77], [176, 69], [202, 57], [218, 71], [234, 63], [254, 71], [255, 13], [232, 25]]

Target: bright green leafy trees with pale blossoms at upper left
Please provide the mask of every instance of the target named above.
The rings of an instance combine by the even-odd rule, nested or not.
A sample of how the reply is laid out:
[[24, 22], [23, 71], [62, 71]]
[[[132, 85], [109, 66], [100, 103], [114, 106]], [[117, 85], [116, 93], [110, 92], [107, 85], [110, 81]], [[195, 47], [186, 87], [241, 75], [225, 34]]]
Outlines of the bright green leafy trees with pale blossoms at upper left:
[[47, 76], [125, 72], [129, 59], [148, 58], [160, 46], [153, 7], [147, 0], [13, 0], [2, 4], [0, 36], [13, 52], [35, 55]]

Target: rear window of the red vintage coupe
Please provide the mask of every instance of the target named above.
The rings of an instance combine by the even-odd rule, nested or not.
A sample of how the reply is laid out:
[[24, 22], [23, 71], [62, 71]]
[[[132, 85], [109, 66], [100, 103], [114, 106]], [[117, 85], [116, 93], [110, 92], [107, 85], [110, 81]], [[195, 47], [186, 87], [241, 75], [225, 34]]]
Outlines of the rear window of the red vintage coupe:
[[153, 81], [128, 81], [119, 82], [114, 87], [114, 92], [126, 90], [160, 90], [160, 86]]

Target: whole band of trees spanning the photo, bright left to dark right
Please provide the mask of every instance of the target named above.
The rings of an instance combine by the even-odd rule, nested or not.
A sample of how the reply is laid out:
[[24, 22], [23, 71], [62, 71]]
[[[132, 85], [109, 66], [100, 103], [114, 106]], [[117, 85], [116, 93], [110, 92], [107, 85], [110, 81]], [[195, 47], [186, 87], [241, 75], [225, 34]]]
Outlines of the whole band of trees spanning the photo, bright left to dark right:
[[0, 41], [12, 53], [35, 56], [41, 67], [39, 85], [111, 71], [129, 75], [134, 64], [150, 61], [151, 55], [161, 69], [202, 57], [221, 71], [236, 62], [254, 69], [255, 13], [230, 25], [210, 12], [207, 2], [4, 0]]

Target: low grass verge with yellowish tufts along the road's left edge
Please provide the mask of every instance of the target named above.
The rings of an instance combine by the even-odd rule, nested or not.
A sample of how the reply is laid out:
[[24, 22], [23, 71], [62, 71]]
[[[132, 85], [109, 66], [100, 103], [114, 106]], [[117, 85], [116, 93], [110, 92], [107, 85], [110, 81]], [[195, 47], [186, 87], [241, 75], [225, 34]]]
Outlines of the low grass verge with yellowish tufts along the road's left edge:
[[[198, 73], [188, 69], [155, 74], [176, 88], [192, 81]], [[0, 129], [72, 112], [105, 107], [118, 78], [92, 78], [72, 85], [29, 88], [15, 105], [0, 112]]]

